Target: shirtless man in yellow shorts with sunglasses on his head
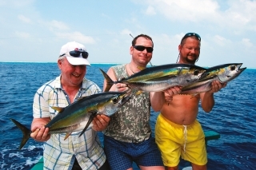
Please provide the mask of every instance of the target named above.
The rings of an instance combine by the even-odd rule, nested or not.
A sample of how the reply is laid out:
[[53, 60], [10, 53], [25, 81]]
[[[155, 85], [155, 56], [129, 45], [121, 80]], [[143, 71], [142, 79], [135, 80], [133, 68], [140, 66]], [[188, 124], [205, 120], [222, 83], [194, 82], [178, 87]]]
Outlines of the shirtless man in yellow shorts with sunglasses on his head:
[[[178, 45], [178, 63], [193, 64], [198, 61], [201, 38], [188, 33]], [[198, 104], [210, 112], [214, 107], [214, 93], [225, 87], [219, 81], [212, 82], [212, 89], [191, 98], [190, 95], [176, 95], [178, 87], [157, 92], [150, 96], [154, 111], [161, 111], [155, 127], [155, 140], [162, 153], [162, 160], [168, 170], [178, 170], [180, 156], [191, 162], [193, 170], [206, 170], [207, 155], [205, 136], [197, 121]]]

